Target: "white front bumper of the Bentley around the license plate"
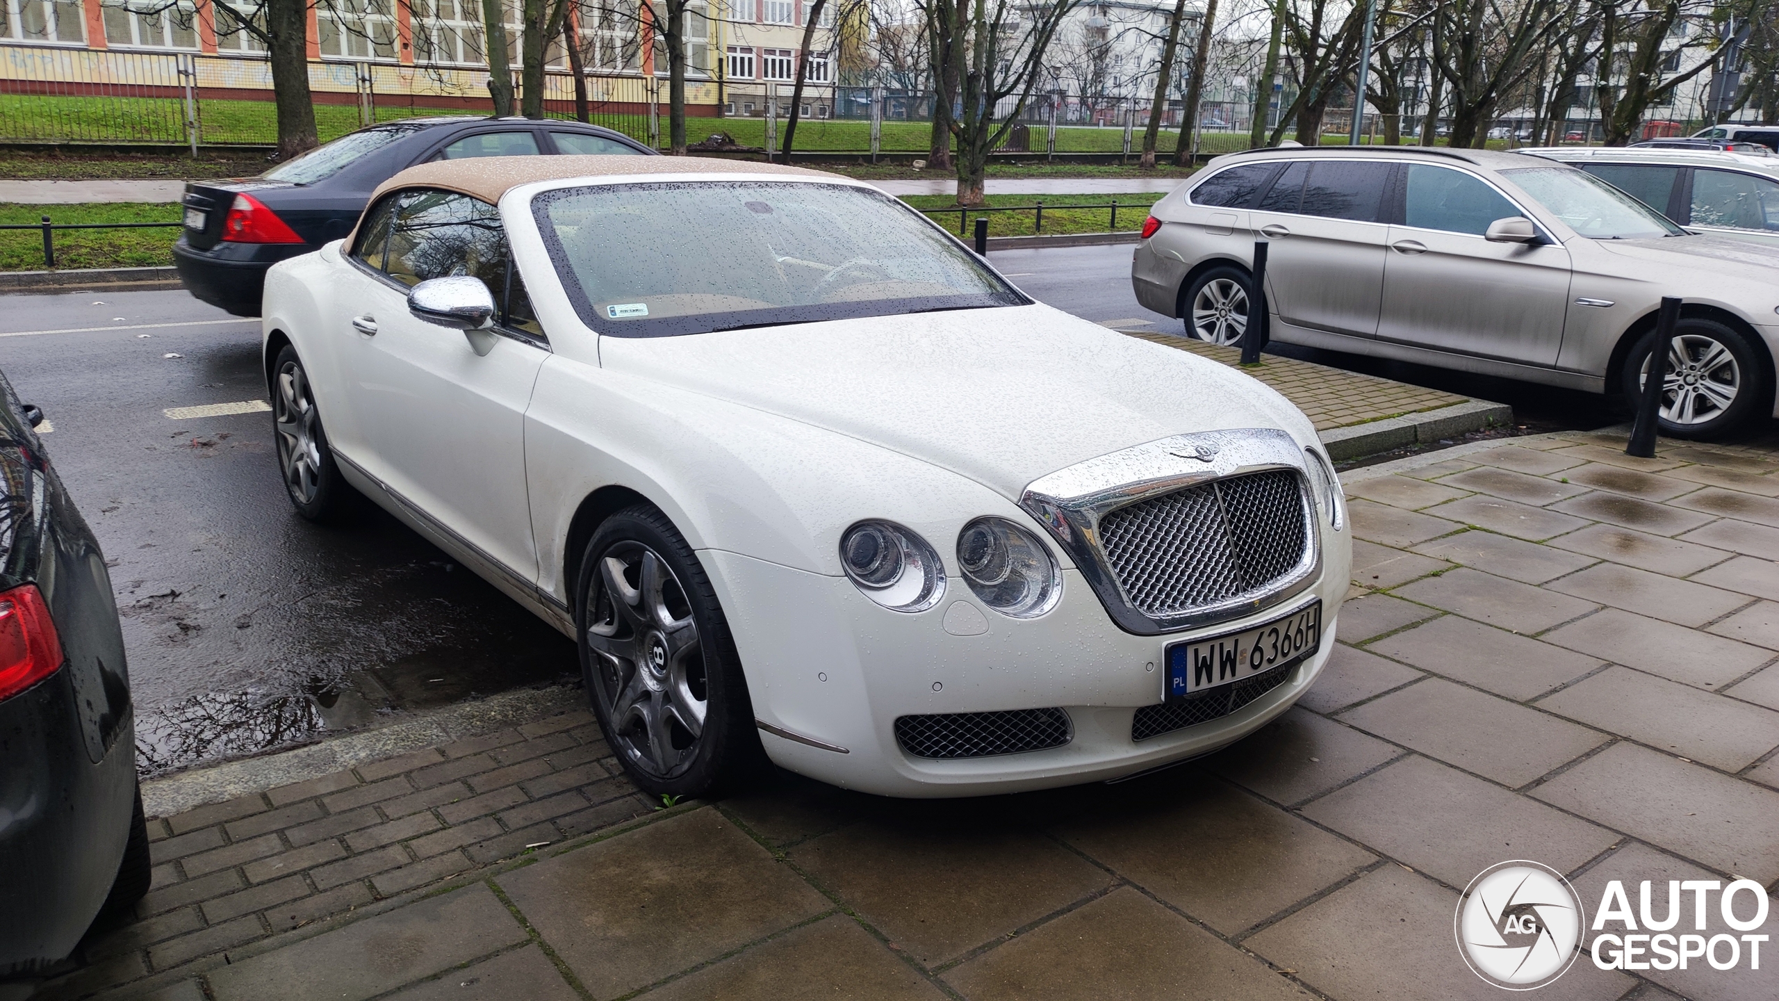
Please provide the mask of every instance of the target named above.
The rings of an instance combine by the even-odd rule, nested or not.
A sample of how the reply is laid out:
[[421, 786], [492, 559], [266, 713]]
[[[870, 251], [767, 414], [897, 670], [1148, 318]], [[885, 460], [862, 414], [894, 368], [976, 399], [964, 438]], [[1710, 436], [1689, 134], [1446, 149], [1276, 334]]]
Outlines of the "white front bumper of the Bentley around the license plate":
[[[1167, 636], [1117, 629], [1076, 570], [1064, 572], [1059, 606], [1035, 620], [984, 609], [952, 579], [938, 607], [891, 613], [845, 577], [792, 570], [733, 552], [704, 550], [735, 634], [754, 716], [777, 730], [845, 748], [822, 750], [761, 730], [783, 768], [884, 796], [977, 796], [1121, 778], [1210, 753], [1279, 716], [1315, 682], [1334, 645], [1350, 556], [1343, 536], [1324, 536], [1322, 577], [1267, 611]], [[1338, 540], [1338, 541], [1336, 541]], [[1322, 598], [1322, 645], [1288, 679], [1245, 707], [1146, 741], [1131, 718], [1162, 702], [1163, 648], [1188, 638], [1238, 632]], [[977, 622], [987, 631], [946, 629]], [[920, 759], [895, 739], [909, 714], [1060, 707], [1075, 736], [1059, 748], [973, 759]]]

